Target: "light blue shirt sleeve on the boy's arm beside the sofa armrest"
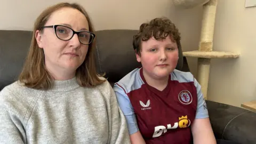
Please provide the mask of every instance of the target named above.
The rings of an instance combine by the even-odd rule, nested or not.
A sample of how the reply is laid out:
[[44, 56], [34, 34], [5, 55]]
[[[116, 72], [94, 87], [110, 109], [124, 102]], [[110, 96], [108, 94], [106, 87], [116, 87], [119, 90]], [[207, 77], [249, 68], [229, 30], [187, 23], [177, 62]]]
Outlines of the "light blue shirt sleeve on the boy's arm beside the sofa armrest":
[[206, 102], [203, 97], [203, 93], [201, 90], [201, 85], [194, 78], [194, 84], [196, 86], [197, 91], [197, 110], [196, 110], [196, 118], [206, 118], [209, 117]]

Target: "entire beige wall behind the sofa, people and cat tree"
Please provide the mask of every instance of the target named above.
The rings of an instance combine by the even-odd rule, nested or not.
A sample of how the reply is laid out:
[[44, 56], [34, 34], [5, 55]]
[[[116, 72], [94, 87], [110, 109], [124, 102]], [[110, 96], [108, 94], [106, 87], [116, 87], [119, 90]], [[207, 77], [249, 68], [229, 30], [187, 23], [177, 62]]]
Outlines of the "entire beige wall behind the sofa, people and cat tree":
[[[31, 30], [37, 15], [45, 7], [63, 2], [2, 1], [0, 29]], [[138, 29], [142, 22], [155, 17], [168, 17], [181, 32], [183, 51], [197, 50], [201, 30], [202, 7], [177, 10], [171, 0], [78, 0], [89, 12], [96, 30]], [[241, 52], [237, 60], [212, 60], [209, 100], [240, 106], [256, 99], [256, 66], [252, 63], [256, 52], [256, 7], [245, 9], [244, 0], [219, 0], [214, 35], [214, 50]], [[197, 60], [188, 58], [191, 72], [197, 76]], [[244, 83], [244, 84], [242, 84]], [[254, 87], [255, 86], [255, 87]]]

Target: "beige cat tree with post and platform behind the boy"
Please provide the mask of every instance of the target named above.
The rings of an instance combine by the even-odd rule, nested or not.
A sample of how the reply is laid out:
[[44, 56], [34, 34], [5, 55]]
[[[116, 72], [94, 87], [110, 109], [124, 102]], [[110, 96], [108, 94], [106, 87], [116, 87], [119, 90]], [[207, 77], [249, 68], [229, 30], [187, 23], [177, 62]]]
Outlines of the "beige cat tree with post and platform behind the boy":
[[203, 6], [203, 19], [201, 38], [197, 51], [183, 52], [185, 57], [198, 58], [198, 83], [201, 85], [204, 98], [207, 99], [207, 89], [212, 58], [238, 58], [234, 52], [213, 51], [213, 32], [215, 14], [218, 0], [173, 0], [173, 4], [179, 9], [191, 9], [195, 6]]

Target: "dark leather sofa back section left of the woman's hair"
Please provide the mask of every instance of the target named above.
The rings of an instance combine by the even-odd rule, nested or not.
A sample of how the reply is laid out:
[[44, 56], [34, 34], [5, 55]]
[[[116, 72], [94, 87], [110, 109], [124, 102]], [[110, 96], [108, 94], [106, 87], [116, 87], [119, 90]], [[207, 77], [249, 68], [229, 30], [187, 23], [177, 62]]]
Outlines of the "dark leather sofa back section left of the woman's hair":
[[17, 80], [32, 35], [31, 31], [0, 30], [0, 91]]

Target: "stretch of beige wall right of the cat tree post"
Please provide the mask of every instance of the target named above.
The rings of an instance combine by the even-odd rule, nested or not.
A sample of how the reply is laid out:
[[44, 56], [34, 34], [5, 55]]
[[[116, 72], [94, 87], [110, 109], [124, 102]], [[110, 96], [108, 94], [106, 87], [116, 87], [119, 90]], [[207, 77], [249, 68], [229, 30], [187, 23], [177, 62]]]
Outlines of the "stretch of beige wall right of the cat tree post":
[[240, 52], [239, 59], [213, 60], [209, 100], [240, 106], [256, 100], [256, 7], [242, 0], [220, 0], [213, 49]]

